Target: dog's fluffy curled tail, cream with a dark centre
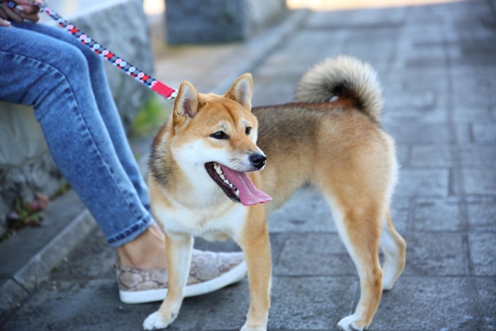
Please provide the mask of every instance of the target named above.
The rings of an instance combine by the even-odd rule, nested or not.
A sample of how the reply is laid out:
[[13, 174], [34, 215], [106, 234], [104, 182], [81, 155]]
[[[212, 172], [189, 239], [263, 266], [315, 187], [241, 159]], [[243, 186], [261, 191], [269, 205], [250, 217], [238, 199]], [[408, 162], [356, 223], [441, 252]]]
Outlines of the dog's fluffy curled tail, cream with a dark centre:
[[346, 55], [324, 60], [303, 75], [296, 91], [297, 102], [328, 102], [336, 97], [352, 99], [373, 120], [381, 119], [381, 84], [366, 62]]

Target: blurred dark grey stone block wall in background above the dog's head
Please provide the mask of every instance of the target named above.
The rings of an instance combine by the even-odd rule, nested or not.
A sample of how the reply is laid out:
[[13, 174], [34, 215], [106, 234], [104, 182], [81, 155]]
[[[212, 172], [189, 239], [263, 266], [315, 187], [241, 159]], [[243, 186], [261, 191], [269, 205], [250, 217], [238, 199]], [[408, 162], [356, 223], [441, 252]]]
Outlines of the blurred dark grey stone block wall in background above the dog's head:
[[285, 11], [284, 0], [167, 0], [167, 43], [245, 40]]

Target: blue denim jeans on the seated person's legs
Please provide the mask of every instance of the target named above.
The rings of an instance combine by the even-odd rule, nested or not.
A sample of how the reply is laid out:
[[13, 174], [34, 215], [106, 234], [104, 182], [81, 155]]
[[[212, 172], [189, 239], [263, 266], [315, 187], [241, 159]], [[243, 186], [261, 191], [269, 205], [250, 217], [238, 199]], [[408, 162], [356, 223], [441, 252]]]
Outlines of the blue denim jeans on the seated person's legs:
[[103, 60], [60, 28], [0, 27], [0, 100], [33, 106], [60, 172], [118, 247], [154, 220]]

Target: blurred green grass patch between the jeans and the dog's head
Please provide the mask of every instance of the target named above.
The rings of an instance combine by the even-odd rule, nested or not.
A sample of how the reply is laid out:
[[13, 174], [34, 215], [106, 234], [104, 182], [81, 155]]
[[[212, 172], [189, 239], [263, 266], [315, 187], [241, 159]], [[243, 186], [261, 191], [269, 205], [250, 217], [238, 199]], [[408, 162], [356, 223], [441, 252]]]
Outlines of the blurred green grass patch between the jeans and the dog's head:
[[130, 135], [144, 138], [157, 133], [157, 130], [169, 118], [173, 106], [174, 100], [166, 100], [162, 96], [152, 95], [131, 123]]

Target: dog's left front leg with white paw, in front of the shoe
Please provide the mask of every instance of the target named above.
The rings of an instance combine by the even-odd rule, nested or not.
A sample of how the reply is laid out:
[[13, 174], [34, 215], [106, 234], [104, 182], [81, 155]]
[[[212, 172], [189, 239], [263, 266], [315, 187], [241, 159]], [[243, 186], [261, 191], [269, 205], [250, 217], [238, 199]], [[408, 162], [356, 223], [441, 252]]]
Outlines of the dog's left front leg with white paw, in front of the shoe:
[[184, 299], [184, 287], [188, 281], [193, 237], [191, 235], [166, 235], [167, 271], [169, 288], [159, 310], [143, 322], [144, 330], [164, 329], [176, 320]]

